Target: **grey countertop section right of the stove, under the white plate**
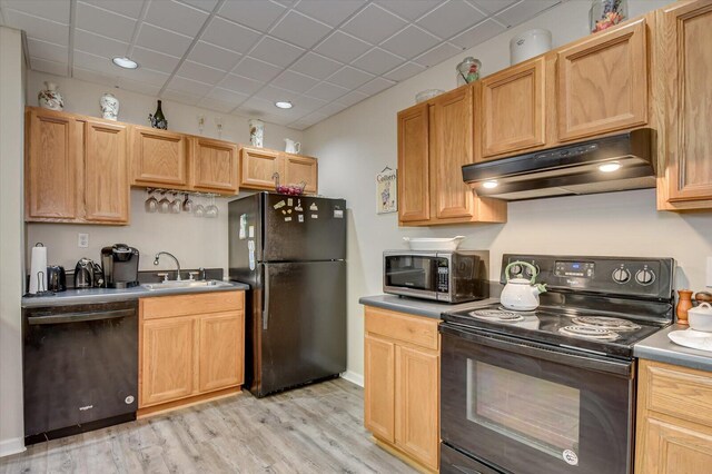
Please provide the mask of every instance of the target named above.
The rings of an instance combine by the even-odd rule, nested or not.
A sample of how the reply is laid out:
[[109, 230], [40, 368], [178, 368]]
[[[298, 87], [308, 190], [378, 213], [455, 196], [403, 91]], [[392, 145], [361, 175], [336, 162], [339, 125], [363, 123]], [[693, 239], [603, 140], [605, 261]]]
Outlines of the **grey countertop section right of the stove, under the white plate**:
[[670, 340], [668, 334], [689, 326], [673, 324], [641, 340], [633, 347], [635, 357], [712, 372], [712, 352], [691, 349]]

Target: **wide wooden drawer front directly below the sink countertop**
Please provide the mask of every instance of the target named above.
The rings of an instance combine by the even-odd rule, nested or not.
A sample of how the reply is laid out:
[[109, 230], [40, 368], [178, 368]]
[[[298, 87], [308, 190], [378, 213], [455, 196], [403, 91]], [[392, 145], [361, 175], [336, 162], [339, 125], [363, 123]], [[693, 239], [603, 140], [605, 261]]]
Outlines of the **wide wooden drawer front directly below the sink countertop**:
[[158, 296], [140, 299], [144, 319], [244, 310], [245, 292], [200, 293], [179, 296]]

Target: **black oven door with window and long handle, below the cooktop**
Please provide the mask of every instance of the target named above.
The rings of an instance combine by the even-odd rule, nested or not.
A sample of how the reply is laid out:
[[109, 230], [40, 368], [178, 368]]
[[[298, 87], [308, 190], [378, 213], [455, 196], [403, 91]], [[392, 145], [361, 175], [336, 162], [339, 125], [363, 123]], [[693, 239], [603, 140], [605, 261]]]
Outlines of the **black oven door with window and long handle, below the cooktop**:
[[512, 473], [630, 473], [632, 361], [441, 325], [443, 443]]

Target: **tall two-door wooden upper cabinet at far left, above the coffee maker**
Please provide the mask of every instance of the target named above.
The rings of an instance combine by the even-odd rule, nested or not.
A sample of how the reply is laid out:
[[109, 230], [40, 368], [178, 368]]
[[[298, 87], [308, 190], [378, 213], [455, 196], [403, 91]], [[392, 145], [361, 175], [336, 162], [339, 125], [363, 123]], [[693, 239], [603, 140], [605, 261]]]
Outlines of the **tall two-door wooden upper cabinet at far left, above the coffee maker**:
[[127, 224], [127, 127], [28, 107], [26, 220]]

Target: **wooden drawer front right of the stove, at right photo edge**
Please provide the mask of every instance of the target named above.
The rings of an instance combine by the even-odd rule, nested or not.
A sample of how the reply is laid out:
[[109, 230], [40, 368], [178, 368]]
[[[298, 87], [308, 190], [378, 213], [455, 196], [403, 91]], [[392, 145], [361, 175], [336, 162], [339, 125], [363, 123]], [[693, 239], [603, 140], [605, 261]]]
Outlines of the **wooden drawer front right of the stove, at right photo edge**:
[[712, 426], [712, 373], [642, 361], [649, 411]]

